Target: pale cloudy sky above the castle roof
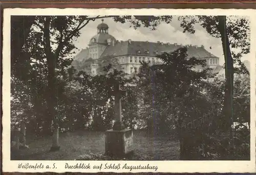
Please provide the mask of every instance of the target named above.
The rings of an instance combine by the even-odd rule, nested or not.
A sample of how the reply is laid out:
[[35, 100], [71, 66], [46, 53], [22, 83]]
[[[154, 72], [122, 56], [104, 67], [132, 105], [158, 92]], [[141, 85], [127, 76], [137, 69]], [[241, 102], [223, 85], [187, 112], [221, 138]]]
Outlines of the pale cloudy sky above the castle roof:
[[[75, 46], [79, 49], [78, 52], [88, 47], [90, 39], [97, 34], [97, 26], [100, 23], [102, 23], [101, 19], [96, 19], [81, 29], [81, 35], [74, 41]], [[132, 39], [136, 41], [160, 41], [182, 45], [204, 45], [208, 52], [220, 58], [220, 65], [224, 64], [221, 39], [210, 36], [199, 25], [195, 26], [196, 32], [194, 34], [183, 33], [177, 17], [174, 17], [170, 24], [161, 23], [154, 31], [145, 27], [135, 30], [133, 27], [130, 27], [130, 23], [116, 23], [112, 18], [104, 18], [104, 23], [109, 26], [109, 34], [114, 36], [116, 40]], [[245, 55], [242, 61], [249, 60], [248, 56]]]

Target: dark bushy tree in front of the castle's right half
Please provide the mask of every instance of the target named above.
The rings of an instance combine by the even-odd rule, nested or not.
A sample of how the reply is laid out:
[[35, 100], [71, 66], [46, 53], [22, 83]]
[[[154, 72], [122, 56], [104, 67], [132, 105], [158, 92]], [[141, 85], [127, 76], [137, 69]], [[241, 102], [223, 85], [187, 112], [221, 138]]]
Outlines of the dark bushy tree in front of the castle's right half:
[[[186, 51], [186, 48], [180, 48], [170, 54], [159, 55], [162, 64], [150, 67], [142, 63], [137, 82], [141, 88], [140, 93], [143, 94], [143, 105], [148, 108], [148, 113], [144, 116], [148, 122], [147, 127], [155, 135], [167, 133], [172, 128], [177, 129], [182, 160], [189, 160], [191, 152], [195, 149], [189, 143], [191, 139], [187, 139], [188, 133], [195, 132], [190, 132], [189, 127], [183, 126], [199, 120], [199, 117], [207, 116], [211, 111], [211, 103], [206, 100], [202, 90], [206, 79], [213, 76], [210, 69], [196, 71], [196, 65], [205, 67], [206, 64], [196, 58], [188, 59]], [[207, 124], [209, 121], [204, 125], [198, 122], [197, 127], [206, 129]], [[193, 137], [201, 139], [201, 135]]]

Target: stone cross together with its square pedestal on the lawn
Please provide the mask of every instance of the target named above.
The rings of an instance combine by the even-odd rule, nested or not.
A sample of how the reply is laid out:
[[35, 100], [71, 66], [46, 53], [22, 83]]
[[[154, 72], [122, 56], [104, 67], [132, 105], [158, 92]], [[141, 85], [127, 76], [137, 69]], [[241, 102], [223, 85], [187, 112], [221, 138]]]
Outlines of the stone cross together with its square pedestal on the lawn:
[[121, 97], [127, 95], [127, 91], [117, 84], [112, 95], [115, 96], [115, 123], [113, 129], [106, 130], [105, 133], [105, 154], [122, 157], [133, 152], [133, 130], [126, 129], [122, 123]]

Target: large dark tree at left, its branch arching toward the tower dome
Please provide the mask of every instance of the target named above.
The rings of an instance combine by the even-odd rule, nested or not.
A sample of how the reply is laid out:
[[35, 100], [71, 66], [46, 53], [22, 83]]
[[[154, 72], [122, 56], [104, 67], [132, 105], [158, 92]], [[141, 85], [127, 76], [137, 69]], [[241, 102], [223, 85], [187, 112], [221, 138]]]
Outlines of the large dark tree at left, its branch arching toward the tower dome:
[[[45, 115], [44, 129], [47, 134], [50, 134], [52, 121], [55, 124], [59, 122], [56, 112], [58, 106], [57, 76], [59, 70], [64, 69], [72, 61], [71, 53], [75, 49], [73, 39], [80, 35], [80, 30], [90, 21], [111, 16], [23, 16], [24, 23], [21, 24], [26, 27], [22, 26], [20, 29], [25, 29], [25, 31], [17, 30], [19, 19], [15, 17], [12, 17], [12, 38], [14, 38], [11, 43], [12, 74], [24, 82], [28, 81], [32, 70], [31, 59], [42, 64], [43, 69], [46, 70], [44, 76], [47, 80], [45, 83], [47, 84], [48, 114]], [[19, 36], [23, 39], [16, 43], [15, 39]], [[15, 53], [14, 49], [18, 52]], [[22, 56], [19, 53], [23, 53]], [[22, 73], [19, 74], [20, 72]], [[32, 83], [33, 85], [35, 84]]]

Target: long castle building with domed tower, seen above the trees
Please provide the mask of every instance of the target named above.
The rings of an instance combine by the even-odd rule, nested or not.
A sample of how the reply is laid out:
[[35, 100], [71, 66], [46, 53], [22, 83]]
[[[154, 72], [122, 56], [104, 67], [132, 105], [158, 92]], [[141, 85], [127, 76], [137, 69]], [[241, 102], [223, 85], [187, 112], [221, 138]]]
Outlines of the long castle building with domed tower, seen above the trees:
[[[127, 74], [138, 72], [141, 66], [140, 61], [146, 61], [150, 64], [161, 62], [156, 56], [164, 52], [173, 52], [182, 47], [177, 43], [163, 43], [150, 41], [118, 41], [114, 36], [109, 34], [109, 26], [103, 23], [97, 26], [97, 34], [89, 41], [89, 47], [82, 49], [72, 62], [72, 65], [78, 71], [84, 71], [86, 60], [98, 60], [99, 58], [116, 58], [121, 69]], [[219, 58], [212, 55], [204, 46], [186, 45], [188, 57], [205, 59], [208, 68], [213, 70], [220, 69]], [[97, 63], [90, 66], [91, 74], [97, 74]], [[201, 69], [201, 68], [198, 68]], [[216, 72], [214, 71], [214, 72]]]

